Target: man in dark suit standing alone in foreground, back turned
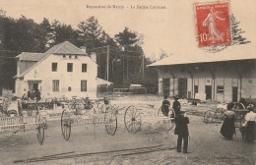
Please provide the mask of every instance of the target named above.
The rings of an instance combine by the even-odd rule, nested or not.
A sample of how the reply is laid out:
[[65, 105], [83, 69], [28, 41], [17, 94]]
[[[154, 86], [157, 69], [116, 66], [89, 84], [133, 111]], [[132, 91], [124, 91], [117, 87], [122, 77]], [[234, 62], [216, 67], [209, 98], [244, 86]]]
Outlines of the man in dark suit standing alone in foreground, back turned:
[[188, 147], [188, 124], [189, 124], [189, 119], [185, 115], [185, 111], [179, 111], [178, 114], [176, 114], [175, 118], [175, 130], [174, 134], [178, 136], [177, 139], [177, 151], [181, 152], [181, 144], [182, 144], [182, 138], [184, 140], [184, 145], [183, 145], [183, 153], [188, 153], [187, 152], [187, 147]]

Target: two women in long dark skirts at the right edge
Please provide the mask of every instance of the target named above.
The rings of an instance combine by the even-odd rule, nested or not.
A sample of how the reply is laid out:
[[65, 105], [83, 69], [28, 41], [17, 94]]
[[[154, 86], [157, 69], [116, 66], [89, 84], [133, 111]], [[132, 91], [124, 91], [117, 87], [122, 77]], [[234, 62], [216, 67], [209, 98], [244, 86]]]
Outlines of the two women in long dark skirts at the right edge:
[[[235, 120], [236, 115], [233, 111], [234, 105], [227, 104], [227, 110], [224, 112], [224, 124], [221, 129], [221, 134], [224, 138], [230, 140], [236, 134]], [[253, 142], [256, 139], [256, 111], [253, 104], [249, 104], [246, 108], [249, 112], [245, 114], [244, 123], [240, 127], [242, 138], [247, 142]]]

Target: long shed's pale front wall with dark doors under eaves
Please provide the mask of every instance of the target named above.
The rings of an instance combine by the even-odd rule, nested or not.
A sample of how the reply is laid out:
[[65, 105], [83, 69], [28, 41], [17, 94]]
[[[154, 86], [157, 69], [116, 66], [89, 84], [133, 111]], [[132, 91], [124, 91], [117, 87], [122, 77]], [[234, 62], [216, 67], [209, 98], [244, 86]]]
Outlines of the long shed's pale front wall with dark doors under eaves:
[[160, 94], [220, 102], [256, 98], [256, 58], [151, 67], [158, 70]]

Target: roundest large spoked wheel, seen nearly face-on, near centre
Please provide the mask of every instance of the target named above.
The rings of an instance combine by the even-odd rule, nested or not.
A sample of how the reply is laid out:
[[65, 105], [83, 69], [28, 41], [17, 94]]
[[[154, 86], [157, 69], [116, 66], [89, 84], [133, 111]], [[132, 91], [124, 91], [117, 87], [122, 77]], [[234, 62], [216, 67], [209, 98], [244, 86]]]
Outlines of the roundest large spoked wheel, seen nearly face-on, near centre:
[[134, 106], [129, 106], [124, 114], [125, 128], [129, 133], [136, 134], [142, 125], [141, 114]]

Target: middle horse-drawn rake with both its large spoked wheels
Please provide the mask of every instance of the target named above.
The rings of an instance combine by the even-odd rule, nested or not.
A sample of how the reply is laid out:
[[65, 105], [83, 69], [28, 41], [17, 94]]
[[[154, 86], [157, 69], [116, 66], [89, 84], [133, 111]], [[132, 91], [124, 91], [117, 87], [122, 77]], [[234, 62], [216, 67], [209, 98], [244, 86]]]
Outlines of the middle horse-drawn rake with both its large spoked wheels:
[[63, 110], [61, 115], [61, 131], [63, 138], [69, 140], [71, 128], [85, 125], [103, 125], [107, 134], [113, 136], [117, 130], [117, 117], [116, 114], [112, 112], [111, 107], [104, 113], [96, 113], [96, 111], [79, 113], [76, 110]]

